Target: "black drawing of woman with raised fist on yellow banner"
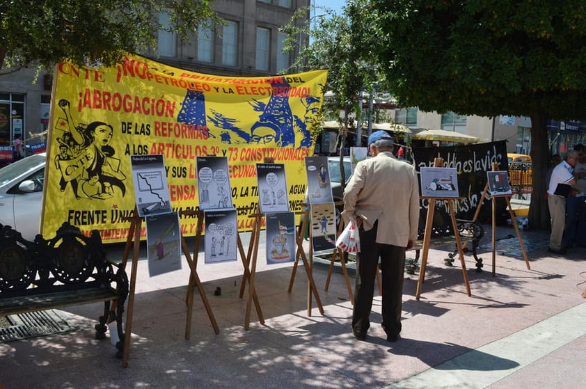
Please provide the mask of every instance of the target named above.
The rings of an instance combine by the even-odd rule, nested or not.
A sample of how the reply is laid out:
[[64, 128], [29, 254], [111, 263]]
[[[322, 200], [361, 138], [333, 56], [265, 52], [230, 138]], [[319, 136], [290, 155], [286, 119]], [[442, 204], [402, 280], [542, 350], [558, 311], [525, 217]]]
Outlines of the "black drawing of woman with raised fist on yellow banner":
[[99, 121], [75, 125], [70, 102], [60, 100], [58, 106], [65, 114], [63, 125], [68, 129], [58, 138], [61, 141], [56, 164], [61, 171], [61, 191], [71, 182], [76, 198], [104, 200], [113, 197], [116, 190], [124, 196], [126, 176], [120, 171], [120, 159], [113, 157], [115, 150], [110, 145], [113, 127]]

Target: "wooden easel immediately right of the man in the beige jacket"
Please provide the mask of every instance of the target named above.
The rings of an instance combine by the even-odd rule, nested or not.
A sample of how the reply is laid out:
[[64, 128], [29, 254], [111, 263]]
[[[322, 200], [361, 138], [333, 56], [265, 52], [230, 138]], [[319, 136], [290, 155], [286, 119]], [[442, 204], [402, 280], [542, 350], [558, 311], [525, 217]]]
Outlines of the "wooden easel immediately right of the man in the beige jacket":
[[[443, 159], [436, 158], [434, 161], [434, 167], [442, 167]], [[462, 250], [462, 243], [460, 235], [458, 234], [458, 225], [456, 222], [456, 214], [454, 211], [454, 200], [457, 198], [440, 198], [440, 197], [427, 197], [422, 198], [429, 199], [429, 205], [427, 206], [427, 219], [425, 219], [425, 234], [423, 235], [423, 247], [421, 250], [421, 265], [419, 268], [419, 278], [417, 281], [417, 292], [415, 293], [415, 299], [419, 300], [421, 296], [421, 289], [423, 281], [425, 280], [425, 270], [427, 269], [427, 253], [429, 253], [429, 243], [431, 241], [431, 230], [434, 222], [434, 211], [436, 208], [436, 201], [445, 201], [448, 203], [448, 209], [450, 212], [450, 219], [452, 221], [452, 230], [454, 231], [454, 239], [456, 240], [456, 247], [458, 249], [458, 256], [460, 258], [460, 264], [462, 267], [462, 275], [464, 276], [464, 284], [466, 285], [466, 293], [471, 296], [470, 293], [470, 281], [468, 280], [468, 272], [466, 271], [466, 262], [464, 261], [464, 251]]]

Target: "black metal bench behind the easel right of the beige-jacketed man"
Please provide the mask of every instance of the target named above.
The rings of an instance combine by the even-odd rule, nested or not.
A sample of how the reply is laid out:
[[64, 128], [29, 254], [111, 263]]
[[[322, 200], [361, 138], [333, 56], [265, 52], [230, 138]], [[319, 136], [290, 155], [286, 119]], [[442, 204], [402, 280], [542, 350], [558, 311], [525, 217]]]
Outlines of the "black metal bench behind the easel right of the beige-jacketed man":
[[[458, 234], [460, 237], [461, 244], [464, 246], [464, 253], [468, 253], [468, 242], [472, 243], [472, 255], [476, 260], [476, 271], [482, 271], [482, 258], [477, 255], [477, 248], [480, 245], [480, 239], [484, 237], [484, 228], [477, 221], [456, 219]], [[405, 260], [405, 271], [409, 274], [415, 274], [416, 269], [419, 267], [419, 255], [420, 250], [423, 248], [423, 237], [425, 235], [425, 217], [420, 219], [418, 229], [418, 240], [415, 241], [413, 248], [415, 250], [415, 258], [407, 258]], [[448, 253], [448, 257], [445, 258], [444, 263], [447, 266], [453, 266], [454, 259], [458, 255], [458, 248], [456, 246], [456, 237], [454, 235], [454, 228], [452, 222], [448, 218], [447, 223], [442, 219], [434, 220], [434, 225], [431, 228], [431, 239], [429, 240], [430, 247], [447, 246], [453, 245], [454, 251]]]

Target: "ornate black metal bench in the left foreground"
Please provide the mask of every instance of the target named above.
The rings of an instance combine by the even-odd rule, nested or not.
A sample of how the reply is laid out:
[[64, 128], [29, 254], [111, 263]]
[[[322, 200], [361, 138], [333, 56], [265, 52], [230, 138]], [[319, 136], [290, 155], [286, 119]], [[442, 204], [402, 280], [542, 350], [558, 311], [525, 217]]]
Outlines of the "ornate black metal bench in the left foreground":
[[125, 270], [106, 259], [97, 230], [86, 237], [63, 223], [54, 238], [37, 235], [31, 242], [0, 224], [0, 316], [104, 302], [95, 338], [105, 339], [106, 324], [116, 321], [116, 356], [122, 358], [128, 287]]

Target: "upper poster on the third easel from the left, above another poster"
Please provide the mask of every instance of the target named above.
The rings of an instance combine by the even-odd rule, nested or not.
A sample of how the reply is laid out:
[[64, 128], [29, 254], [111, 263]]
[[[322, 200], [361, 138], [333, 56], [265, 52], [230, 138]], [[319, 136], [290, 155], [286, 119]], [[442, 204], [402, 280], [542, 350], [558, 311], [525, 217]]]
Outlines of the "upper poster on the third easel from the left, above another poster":
[[289, 212], [285, 164], [256, 164], [260, 213]]

